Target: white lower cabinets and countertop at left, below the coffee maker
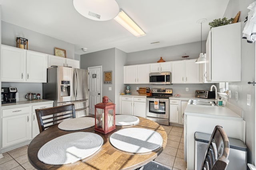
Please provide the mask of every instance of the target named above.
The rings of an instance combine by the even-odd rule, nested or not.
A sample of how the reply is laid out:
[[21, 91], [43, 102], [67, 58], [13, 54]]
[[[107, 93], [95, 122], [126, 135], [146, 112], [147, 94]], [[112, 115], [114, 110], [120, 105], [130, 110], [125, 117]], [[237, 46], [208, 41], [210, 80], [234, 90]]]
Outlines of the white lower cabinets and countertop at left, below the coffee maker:
[[53, 102], [38, 102], [25, 104], [25, 106], [2, 106], [1, 149], [7, 147], [15, 149], [20, 146], [20, 143], [28, 142], [36, 137], [40, 132], [35, 109], [47, 107], [53, 107]]

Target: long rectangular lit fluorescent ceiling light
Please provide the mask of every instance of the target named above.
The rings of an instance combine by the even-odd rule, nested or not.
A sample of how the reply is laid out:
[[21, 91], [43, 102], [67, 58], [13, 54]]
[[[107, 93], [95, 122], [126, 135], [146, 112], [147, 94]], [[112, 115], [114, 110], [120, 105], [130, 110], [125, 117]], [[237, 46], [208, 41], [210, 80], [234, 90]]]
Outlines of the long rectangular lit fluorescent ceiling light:
[[132, 19], [124, 13], [123, 10], [120, 9], [120, 12], [116, 18], [114, 18], [120, 25], [126, 28], [130, 33], [135, 35], [136, 37], [141, 37], [146, 35], [144, 31], [134, 22]]

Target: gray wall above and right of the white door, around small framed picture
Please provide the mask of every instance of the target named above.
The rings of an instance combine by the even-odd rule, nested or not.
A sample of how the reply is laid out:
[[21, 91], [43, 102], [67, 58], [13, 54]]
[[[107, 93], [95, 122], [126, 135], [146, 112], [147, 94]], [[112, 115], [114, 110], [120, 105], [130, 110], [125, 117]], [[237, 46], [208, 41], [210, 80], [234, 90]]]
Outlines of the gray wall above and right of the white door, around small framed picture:
[[[91, 66], [102, 66], [102, 97], [108, 96], [115, 103], [115, 48], [97, 51], [81, 55], [81, 68], [86, 69]], [[103, 72], [112, 71], [112, 84], [103, 84]], [[111, 87], [112, 90], [108, 90]]]

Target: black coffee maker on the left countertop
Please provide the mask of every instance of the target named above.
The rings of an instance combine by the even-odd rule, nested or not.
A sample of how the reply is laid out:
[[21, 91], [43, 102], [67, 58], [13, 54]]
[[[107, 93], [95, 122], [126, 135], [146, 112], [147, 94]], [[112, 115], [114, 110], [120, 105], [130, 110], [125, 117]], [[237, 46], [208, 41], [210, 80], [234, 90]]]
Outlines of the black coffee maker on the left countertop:
[[1, 89], [1, 102], [5, 103], [16, 103], [16, 87], [2, 87]]

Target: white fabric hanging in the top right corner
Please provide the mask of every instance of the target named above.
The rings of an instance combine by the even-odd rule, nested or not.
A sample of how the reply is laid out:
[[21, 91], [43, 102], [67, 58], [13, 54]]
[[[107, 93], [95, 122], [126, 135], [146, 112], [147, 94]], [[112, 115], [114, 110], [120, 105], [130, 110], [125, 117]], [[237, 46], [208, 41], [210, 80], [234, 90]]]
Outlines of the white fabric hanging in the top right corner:
[[247, 9], [250, 11], [244, 26], [242, 39], [247, 39], [248, 43], [254, 43], [256, 40], [256, 1], [252, 2]]

